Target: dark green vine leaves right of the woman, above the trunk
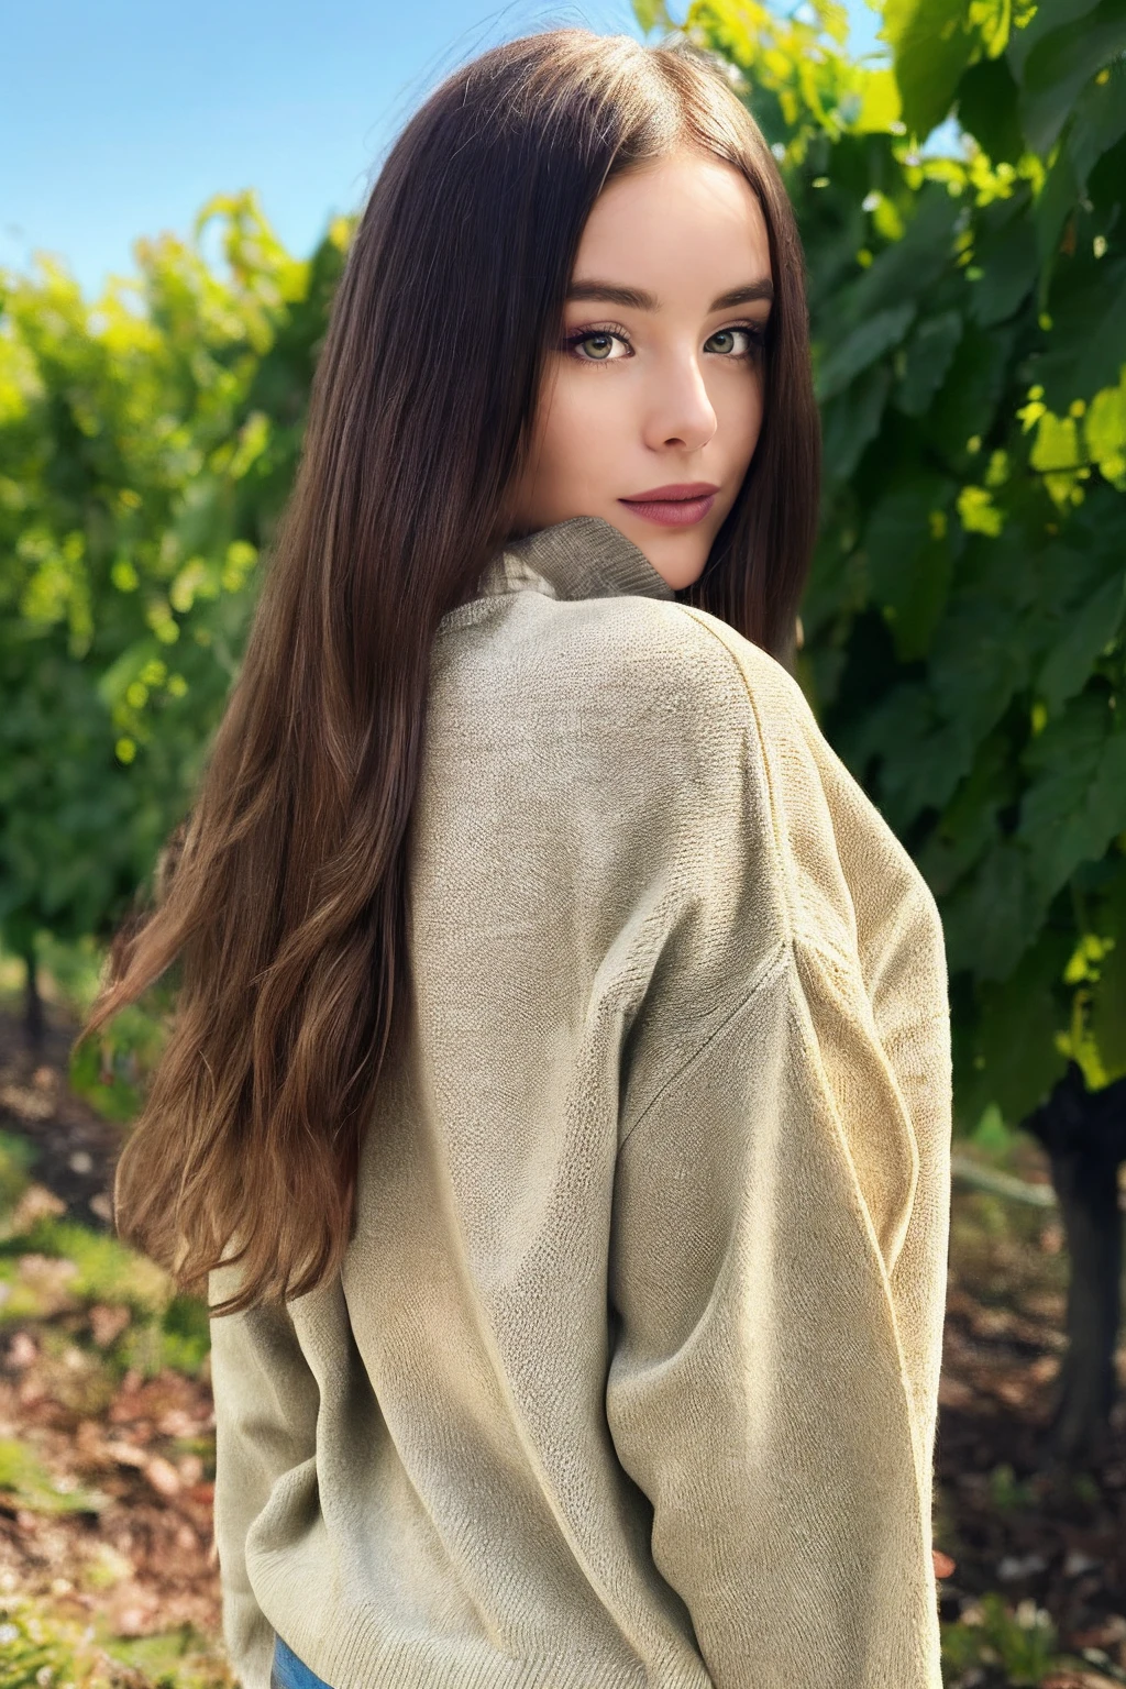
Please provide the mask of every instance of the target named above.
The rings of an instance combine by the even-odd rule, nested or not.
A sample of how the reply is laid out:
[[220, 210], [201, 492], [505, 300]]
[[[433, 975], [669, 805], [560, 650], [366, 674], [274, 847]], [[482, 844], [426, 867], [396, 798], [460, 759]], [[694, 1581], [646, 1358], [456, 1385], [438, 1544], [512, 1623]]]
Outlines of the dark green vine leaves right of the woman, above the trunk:
[[[942, 909], [955, 1111], [1126, 1073], [1126, 12], [694, 0], [807, 253], [800, 679]], [[961, 140], [927, 147], [950, 115]]]

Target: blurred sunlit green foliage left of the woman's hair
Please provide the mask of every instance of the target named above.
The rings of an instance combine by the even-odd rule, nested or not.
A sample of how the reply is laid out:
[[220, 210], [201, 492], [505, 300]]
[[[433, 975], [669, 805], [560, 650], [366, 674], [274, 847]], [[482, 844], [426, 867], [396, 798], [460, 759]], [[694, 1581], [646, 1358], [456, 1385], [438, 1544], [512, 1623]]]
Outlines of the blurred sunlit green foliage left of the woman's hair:
[[218, 196], [230, 279], [138, 242], [89, 304], [0, 272], [0, 934], [105, 937], [182, 817], [238, 672], [349, 238], [307, 262]]

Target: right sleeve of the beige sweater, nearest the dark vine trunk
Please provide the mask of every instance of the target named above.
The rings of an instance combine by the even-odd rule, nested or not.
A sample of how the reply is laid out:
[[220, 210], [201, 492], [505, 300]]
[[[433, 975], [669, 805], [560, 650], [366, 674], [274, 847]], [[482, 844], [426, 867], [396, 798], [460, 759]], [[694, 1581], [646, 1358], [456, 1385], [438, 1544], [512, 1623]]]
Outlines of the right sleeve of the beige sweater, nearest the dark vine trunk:
[[[606, 1417], [716, 1689], [940, 1689], [942, 929], [797, 686], [755, 662], [765, 797], [707, 851], [773, 861], [785, 939], [621, 1121]], [[653, 1025], [685, 993], [667, 971]]]

